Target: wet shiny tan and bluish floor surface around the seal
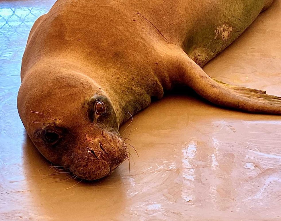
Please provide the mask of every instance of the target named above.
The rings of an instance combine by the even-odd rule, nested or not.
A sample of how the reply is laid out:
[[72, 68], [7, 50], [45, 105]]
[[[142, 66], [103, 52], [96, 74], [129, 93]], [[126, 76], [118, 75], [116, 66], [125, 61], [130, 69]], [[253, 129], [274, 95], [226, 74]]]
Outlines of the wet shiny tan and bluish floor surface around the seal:
[[[0, 220], [281, 220], [281, 117], [193, 95], [165, 97], [134, 116], [139, 158], [131, 149], [130, 167], [94, 183], [48, 175], [16, 97], [28, 33], [53, 3], [0, 1]], [[204, 70], [281, 96], [280, 15], [276, 0]]]

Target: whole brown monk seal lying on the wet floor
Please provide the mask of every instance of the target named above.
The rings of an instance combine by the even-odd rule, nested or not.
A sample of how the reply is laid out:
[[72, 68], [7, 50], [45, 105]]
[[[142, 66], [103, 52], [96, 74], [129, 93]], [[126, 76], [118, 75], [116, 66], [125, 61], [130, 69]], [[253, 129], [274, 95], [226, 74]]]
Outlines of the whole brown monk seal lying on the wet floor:
[[56, 1], [22, 59], [17, 104], [28, 135], [50, 162], [95, 180], [127, 156], [120, 124], [178, 85], [223, 107], [281, 114], [280, 97], [201, 69], [271, 3]]

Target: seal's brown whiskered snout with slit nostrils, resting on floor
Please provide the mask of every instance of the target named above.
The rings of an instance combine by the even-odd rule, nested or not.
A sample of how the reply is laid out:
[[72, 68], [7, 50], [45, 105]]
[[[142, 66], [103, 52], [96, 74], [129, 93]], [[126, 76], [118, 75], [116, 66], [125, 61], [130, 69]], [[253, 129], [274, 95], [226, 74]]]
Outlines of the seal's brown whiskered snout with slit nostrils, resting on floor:
[[94, 137], [86, 134], [86, 145], [75, 149], [70, 170], [81, 179], [96, 180], [110, 175], [126, 158], [126, 145], [110, 132]]

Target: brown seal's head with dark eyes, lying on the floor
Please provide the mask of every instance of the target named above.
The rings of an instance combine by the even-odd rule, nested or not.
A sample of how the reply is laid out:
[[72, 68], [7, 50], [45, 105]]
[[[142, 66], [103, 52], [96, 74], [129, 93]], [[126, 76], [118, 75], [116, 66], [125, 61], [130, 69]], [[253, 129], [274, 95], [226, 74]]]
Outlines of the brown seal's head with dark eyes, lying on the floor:
[[19, 89], [18, 110], [44, 157], [81, 179], [105, 177], [126, 158], [110, 98], [83, 74], [28, 73]]

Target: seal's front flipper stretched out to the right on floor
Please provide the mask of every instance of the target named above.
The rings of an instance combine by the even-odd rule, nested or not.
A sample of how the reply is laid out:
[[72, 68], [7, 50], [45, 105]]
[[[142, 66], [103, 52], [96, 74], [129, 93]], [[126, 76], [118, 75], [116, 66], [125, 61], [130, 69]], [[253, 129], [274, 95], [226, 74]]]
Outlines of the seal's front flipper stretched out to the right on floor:
[[[182, 59], [180, 59], [183, 61]], [[209, 77], [192, 59], [184, 56], [180, 65], [180, 82], [214, 104], [246, 112], [281, 114], [281, 97], [266, 91], [236, 87]]]

